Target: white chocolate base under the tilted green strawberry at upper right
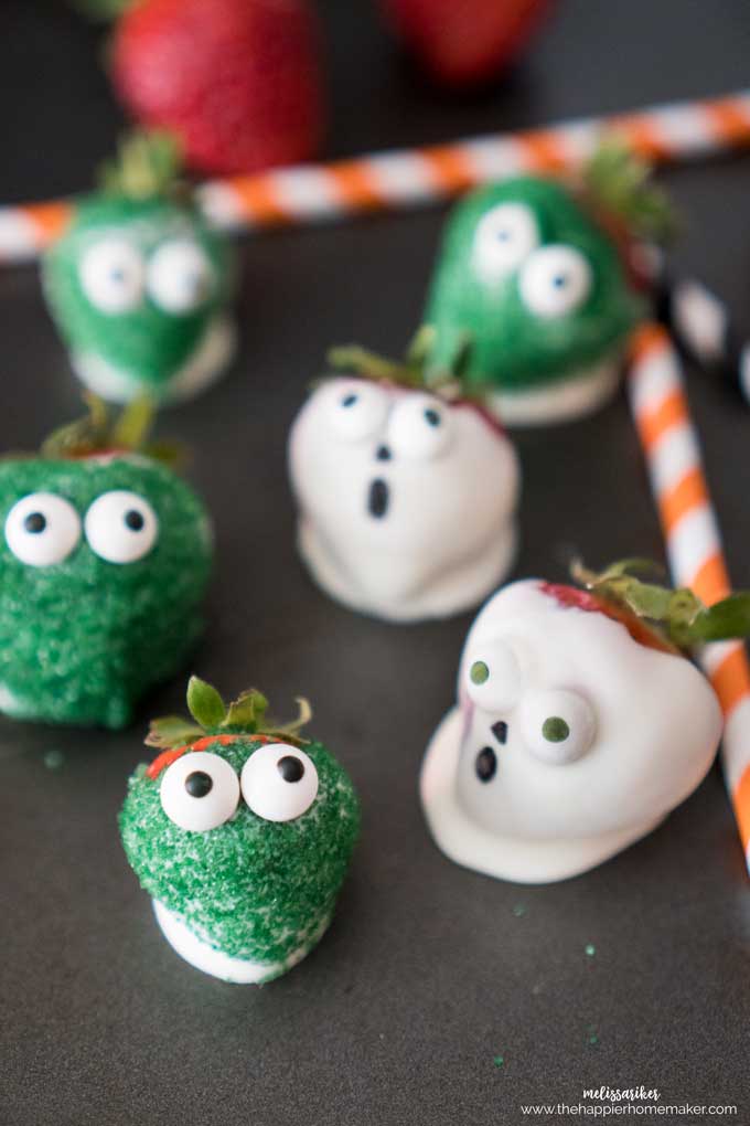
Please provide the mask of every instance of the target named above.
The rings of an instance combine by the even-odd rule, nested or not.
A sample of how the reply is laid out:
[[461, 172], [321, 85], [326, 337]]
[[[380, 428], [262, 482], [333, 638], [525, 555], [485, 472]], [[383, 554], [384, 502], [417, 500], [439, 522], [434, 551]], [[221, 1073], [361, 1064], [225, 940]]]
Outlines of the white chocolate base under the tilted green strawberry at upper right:
[[507, 427], [571, 422], [604, 406], [617, 391], [621, 377], [622, 357], [617, 354], [551, 386], [489, 392], [486, 404]]

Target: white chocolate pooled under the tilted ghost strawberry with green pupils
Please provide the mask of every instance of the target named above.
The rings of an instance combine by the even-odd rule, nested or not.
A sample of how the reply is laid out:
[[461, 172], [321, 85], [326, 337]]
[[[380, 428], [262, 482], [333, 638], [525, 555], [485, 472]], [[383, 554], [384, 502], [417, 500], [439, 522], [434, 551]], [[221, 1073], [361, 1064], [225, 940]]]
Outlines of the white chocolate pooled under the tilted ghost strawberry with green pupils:
[[437, 847], [451, 860], [498, 879], [517, 884], [548, 884], [578, 876], [608, 860], [652, 832], [663, 821], [578, 839], [530, 840], [488, 832], [471, 821], [457, 801], [457, 769], [462, 716], [448, 713], [427, 747], [419, 776], [419, 794]]

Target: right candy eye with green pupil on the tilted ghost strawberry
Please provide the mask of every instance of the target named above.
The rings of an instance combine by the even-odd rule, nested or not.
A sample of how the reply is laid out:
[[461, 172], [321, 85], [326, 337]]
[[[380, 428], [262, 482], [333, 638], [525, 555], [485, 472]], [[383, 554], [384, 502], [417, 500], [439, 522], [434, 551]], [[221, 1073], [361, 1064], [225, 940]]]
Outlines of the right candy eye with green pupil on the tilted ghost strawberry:
[[519, 718], [528, 750], [550, 766], [575, 762], [591, 748], [596, 735], [591, 706], [564, 688], [528, 692]]

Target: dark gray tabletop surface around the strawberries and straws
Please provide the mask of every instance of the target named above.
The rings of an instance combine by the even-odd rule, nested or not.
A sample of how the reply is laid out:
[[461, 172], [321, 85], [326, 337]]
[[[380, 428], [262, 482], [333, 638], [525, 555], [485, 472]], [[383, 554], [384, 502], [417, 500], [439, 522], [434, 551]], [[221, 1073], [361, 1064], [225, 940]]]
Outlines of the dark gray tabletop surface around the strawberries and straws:
[[[364, 0], [323, 16], [329, 155], [719, 93], [750, 73], [747, 0], [561, 0], [525, 61], [464, 98], [418, 79]], [[80, 189], [121, 123], [101, 37], [62, 2], [4, 0], [0, 20], [0, 200]], [[665, 181], [688, 218], [677, 259], [750, 330], [750, 158]], [[470, 616], [365, 620], [319, 595], [295, 556], [284, 439], [304, 388], [331, 342], [400, 349], [442, 218], [247, 239], [240, 360], [162, 423], [193, 445], [216, 518], [196, 670], [227, 692], [257, 683], [281, 711], [308, 695], [360, 788], [363, 834], [333, 929], [262, 990], [193, 971], [160, 938], [115, 816], [147, 717], [180, 708], [181, 682], [119, 735], [3, 721], [3, 1126], [516, 1124], [522, 1102], [577, 1102], [602, 1083], [735, 1102], [733, 1120], [750, 1123], [750, 888], [719, 771], [585, 877], [523, 888], [454, 867], [425, 832], [416, 779]], [[0, 446], [33, 448], [79, 409], [34, 268], [0, 270]], [[750, 584], [750, 415], [696, 372], [689, 388], [733, 575]], [[660, 554], [624, 400], [519, 448], [518, 574], [562, 578], [568, 545], [593, 562]], [[49, 750], [64, 756], [56, 771]]]

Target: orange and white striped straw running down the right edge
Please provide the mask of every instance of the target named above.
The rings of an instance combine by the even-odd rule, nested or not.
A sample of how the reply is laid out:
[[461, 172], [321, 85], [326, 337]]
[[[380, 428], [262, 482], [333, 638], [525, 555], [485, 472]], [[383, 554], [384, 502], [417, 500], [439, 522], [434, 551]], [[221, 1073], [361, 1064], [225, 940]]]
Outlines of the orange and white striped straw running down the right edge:
[[[648, 324], [635, 334], [629, 394], [672, 579], [706, 605], [716, 602], [731, 593], [721, 533], [680, 361], [661, 327]], [[705, 645], [699, 661], [724, 713], [724, 777], [750, 866], [750, 663], [735, 641]]]

